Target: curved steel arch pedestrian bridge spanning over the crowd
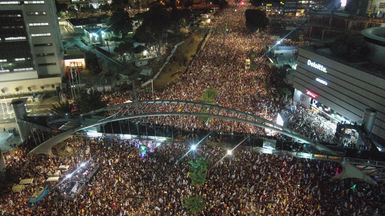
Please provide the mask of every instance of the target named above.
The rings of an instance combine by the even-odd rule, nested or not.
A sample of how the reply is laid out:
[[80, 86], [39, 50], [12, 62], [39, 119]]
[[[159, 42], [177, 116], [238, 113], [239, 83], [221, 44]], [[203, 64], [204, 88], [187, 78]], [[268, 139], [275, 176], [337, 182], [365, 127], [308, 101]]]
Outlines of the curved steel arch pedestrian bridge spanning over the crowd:
[[[108, 115], [106, 116], [106, 114]], [[35, 128], [44, 128], [45, 130], [55, 130], [58, 135], [54, 136], [50, 140], [43, 142], [42, 144], [34, 148], [32, 151], [30, 151], [30, 153], [33, 154], [51, 154], [52, 146], [70, 138], [73, 134], [78, 131], [87, 130], [87, 128], [95, 127], [97, 125], [104, 125], [105, 123], [113, 121], [129, 120], [134, 118], [151, 116], [199, 116], [236, 121], [269, 129], [281, 133], [283, 135], [292, 137], [296, 140], [302, 141], [303, 143], [310, 144], [325, 155], [338, 155], [335, 151], [330, 150], [326, 146], [323, 146], [320, 143], [313, 141], [307, 138], [306, 136], [297, 133], [296, 131], [291, 130], [290, 128], [286, 128], [284, 126], [278, 125], [273, 121], [261, 118], [258, 115], [253, 115], [243, 111], [218, 106], [215, 104], [206, 104], [192, 101], [135, 101], [130, 103], [122, 103], [114, 106], [108, 106], [86, 114], [50, 114], [49, 116], [41, 116], [41, 118], [44, 117], [45, 120], [40, 119], [38, 115], [26, 116], [25, 119], [18, 120], [18, 123], [32, 126]], [[71, 124], [64, 128], [52, 128], [53, 125], [57, 125], [59, 122], [65, 123], [66, 121], [70, 122]], [[48, 122], [50, 122], [50, 124]], [[44, 123], [44, 125], [42, 125], [42, 123]], [[352, 174], [354, 176], [362, 175], [362, 172], [359, 171], [357, 168], [354, 168], [352, 164], [345, 163], [344, 167], [345, 166], [352, 168], [350, 170], [350, 173], [353, 172]], [[356, 173], [354, 174], [354, 172]], [[349, 176], [345, 177], [349, 178]], [[375, 183], [373, 179], [369, 177], [364, 180], [369, 183]]]

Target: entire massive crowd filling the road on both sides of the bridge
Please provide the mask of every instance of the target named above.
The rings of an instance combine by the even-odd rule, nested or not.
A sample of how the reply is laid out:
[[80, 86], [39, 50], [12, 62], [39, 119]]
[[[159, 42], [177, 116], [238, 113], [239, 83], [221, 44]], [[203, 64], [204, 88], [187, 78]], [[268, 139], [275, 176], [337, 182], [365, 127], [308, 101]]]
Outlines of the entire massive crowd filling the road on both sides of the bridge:
[[[178, 81], [156, 91], [155, 97], [199, 101], [210, 86], [218, 91], [218, 105], [257, 115], [264, 113], [263, 106], [267, 106], [269, 120], [275, 121], [281, 113], [287, 126], [314, 140], [331, 141], [334, 131], [325, 119], [301, 105], [296, 111], [286, 111], [283, 100], [272, 100], [272, 93], [265, 91], [266, 83], [275, 85], [278, 70], [270, 68], [262, 54], [266, 50], [265, 44], [275, 42], [261, 33], [249, 34], [244, 27], [244, 10], [248, 6], [240, 7], [236, 12], [233, 7], [230, 4], [229, 8], [213, 18], [206, 45], [197, 53], [189, 70]], [[231, 31], [226, 32], [224, 27], [229, 20]], [[283, 43], [299, 45], [295, 42]], [[245, 70], [244, 62], [249, 58], [251, 49], [256, 53], [253, 62], [256, 67]], [[136, 96], [137, 100], [151, 99], [151, 93], [141, 92]], [[107, 92], [103, 97], [109, 105], [116, 105], [132, 100], [132, 93]], [[159, 116], [147, 121], [183, 127], [211, 127], [218, 131], [264, 133], [254, 126], [218, 119], [212, 119], [206, 126], [199, 118], [191, 116], [178, 118], [177, 121], [172, 117]], [[94, 143], [91, 144], [92, 140]], [[6, 156], [7, 169], [18, 174], [19, 179], [34, 178], [34, 181], [20, 193], [8, 188], [0, 199], [0, 214], [183, 216], [187, 210], [182, 208], [182, 197], [192, 194], [204, 195], [207, 204], [198, 215], [372, 216], [385, 211], [383, 184], [369, 185], [354, 179], [332, 180], [331, 176], [341, 172], [341, 167], [334, 162], [243, 150], [234, 150], [230, 159], [226, 156], [220, 161], [226, 150], [213, 146], [199, 146], [196, 151], [184, 156], [190, 148], [185, 143], [157, 145], [153, 141], [141, 140], [112, 140], [111, 143], [100, 138], [92, 140], [71, 138], [65, 145], [72, 146], [75, 154], [55, 154], [47, 158], [27, 155], [25, 146], [30, 139], [19, 145], [14, 153]], [[111, 148], [104, 148], [107, 144]], [[139, 145], [147, 146], [147, 155], [139, 156]], [[89, 153], [86, 151], [88, 147]], [[187, 162], [194, 156], [209, 160], [207, 181], [201, 187], [189, 186]], [[63, 182], [44, 183], [47, 173], [55, 171], [59, 165], [69, 165], [71, 171], [87, 160], [87, 163], [100, 166], [95, 178], [87, 183], [76, 201], [54, 202], [54, 197], [67, 193], [63, 191], [65, 187], [62, 184], [70, 178], [63, 179], [67, 174], [64, 172], [60, 178]], [[35, 186], [52, 190], [35, 209], [28, 209], [28, 199]], [[137, 209], [136, 200], [127, 199], [127, 196], [145, 199], [138, 201]], [[258, 206], [259, 202], [268, 203]]]

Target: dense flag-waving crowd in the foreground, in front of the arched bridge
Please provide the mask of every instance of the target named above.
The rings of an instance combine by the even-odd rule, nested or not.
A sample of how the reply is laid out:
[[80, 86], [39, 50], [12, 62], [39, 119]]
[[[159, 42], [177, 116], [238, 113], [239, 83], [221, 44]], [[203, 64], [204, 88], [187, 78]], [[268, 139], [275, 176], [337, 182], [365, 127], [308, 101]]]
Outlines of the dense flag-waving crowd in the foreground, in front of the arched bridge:
[[[341, 172], [335, 162], [243, 150], [234, 150], [230, 157], [221, 160], [226, 149], [198, 146], [188, 152], [191, 146], [186, 143], [120, 139], [107, 142], [79, 137], [65, 143], [73, 150], [70, 157], [30, 156], [23, 145], [14, 155], [7, 156], [7, 169], [21, 173], [20, 179], [34, 181], [20, 193], [11, 192], [10, 188], [5, 191], [0, 199], [1, 215], [183, 216], [187, 209], [182, 207], [182, 197], [194, 194], [203, 195], [206, 203], [198, 215], [372, 216], [385, 210], [382, 184], [333, 180], [331, 176]], [[146, 155], [139, 154], [140, 145], [147, 147]], [[209, 171], [204, 185], [194, 187], [189, 185], [191, 170], [187, 162], [198, 156], [208, 159]], [[67, 173], [63, 173], [62, 182], [44, 183], [47, 173], [59, 165], [69, 165], [72, 171], [85, 161], [100, 166], [96, 176], [86, 183], [75, 201], [54, 202], [55, 197], [65, 193], [61, 188], [71, 178], [64, 179]], [[35, 171], [37, 166], [40, 174]], [[35, 209], [28, 209], [35, 186], [48, 187], [50, 192]], [[127, 197], [144, 199], [137, 203]], [[258, 206], [260, 202], [265, 203]]]

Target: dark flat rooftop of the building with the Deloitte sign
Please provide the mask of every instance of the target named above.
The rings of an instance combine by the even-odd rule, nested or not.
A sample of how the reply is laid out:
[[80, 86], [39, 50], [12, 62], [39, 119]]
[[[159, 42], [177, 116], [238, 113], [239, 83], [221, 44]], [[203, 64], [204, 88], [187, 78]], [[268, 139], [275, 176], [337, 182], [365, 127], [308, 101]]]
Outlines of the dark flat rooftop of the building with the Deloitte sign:
[[301, 48], [385, 80], [385, 68], [382, 65], [369, 61], [346, 61], [344, 58], [342, 58], [342, 56], [332, 55], [332, 52], [330, 51], [330, 48], [328, 48], [328, 45], [330, 46], [331, 42], [310, 44], [305, 45]]

